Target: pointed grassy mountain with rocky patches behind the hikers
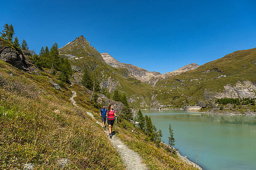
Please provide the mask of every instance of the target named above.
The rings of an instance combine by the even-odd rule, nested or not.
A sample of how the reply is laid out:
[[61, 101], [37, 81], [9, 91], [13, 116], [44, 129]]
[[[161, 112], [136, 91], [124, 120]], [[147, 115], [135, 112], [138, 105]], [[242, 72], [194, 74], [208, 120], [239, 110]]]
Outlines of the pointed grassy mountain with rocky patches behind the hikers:
[[107, 65], [100, 53], [91, 47], [90, 43], [83, 37], [77, 37], [59, 49], [61, 55], [69, 58], [74, 70], [75, 82], [79, 83], [83, 75], [83, 69], [87, 68], [91, 73], [100, 76], [101, 87], [107, 88], [109, 92], [118, 89], [127, 97], [136, 95], [132, 105], [134, 108], [149, 107], [152, 97], [152, 86], [143, 83], [136, 78], [128, 76], [127, 68], [113, 68]]

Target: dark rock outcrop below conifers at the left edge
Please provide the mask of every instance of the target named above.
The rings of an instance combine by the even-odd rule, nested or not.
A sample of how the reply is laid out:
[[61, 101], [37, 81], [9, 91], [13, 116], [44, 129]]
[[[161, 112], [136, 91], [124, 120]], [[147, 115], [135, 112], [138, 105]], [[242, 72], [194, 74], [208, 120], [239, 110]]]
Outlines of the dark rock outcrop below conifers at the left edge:
[[22, 71], [31, 71], [32, 63], [24, 57], [20, 49], [12, 47], [12, 44], [0, 39], [0, 60], [13, 65]]

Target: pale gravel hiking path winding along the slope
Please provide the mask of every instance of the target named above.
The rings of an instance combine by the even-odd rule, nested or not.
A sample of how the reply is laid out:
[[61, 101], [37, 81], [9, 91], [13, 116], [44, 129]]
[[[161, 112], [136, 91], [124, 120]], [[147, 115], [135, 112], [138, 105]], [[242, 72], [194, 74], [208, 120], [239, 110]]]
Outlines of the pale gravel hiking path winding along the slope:
[[[75, 91], [72, 91], [72, 97], [70, 97], [70, 100], [73, 105], [77, 106], [74, 100], [74, 97], [76, 97], [77, 93]], [[77, 106], [78, 107], [78, 106]], [[91, 116], [92, 119], [95, 119], [93, 114], [91, 112], [86, 112], [89, 116]], [[101, 125], [102, 123], [98, 120], [95, 120], [96, 123]], [[102, 129], [103, 130], [103, 129]], [[104, 131], [106, 135], [109, 138], [108, 131]], [[120, 139], [118, 139], [115, 135], [112, 137], [112, 139], [109, 138], [109, 141], [114, 146], [114, 148], [117, 150], [117, 152], [120, 154], [120, 157], [122, 158], [123, 162], [126, 165], [127, 170], [147, 170], [147, 166], [142, 163], [142, 158], [139, 156], [138, 153], [134, 152], [133, 150], [129, 149], [127, 145], [123, 144]]]

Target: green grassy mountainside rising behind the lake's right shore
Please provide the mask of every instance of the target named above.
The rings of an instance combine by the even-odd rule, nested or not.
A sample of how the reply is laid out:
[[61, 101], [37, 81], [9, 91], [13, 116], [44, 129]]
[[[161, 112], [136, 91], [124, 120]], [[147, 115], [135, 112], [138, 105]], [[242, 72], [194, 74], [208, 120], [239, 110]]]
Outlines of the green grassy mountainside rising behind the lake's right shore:
[[[212, 92], [223, 92], [224, 86], [227, 84], [233, 85], [237, 81], [256, 81], [255, 63], [256, 48], [235, 51], [223, 58], [205, 63], [193, 71], [160, 81], [157, 87], [161, 87], [161, 92], [157, 92], [157, 99], [163, 104], [176, 106], [181, 105], [181, 102], [185, 104], [186, 101], [188, 101], [187, 104], [195, 104], [198, 99], [203, 100], [205, 89], [210, 89]], [[218, 68], [218, 70], [214, 68]], [[220, 75], [227, 77], [216, 78]], [[165, 87], [174, 85], [185, 86], [179, 86], [177, 89]], [[161, 94], [163, 92], [169, 93]], [[184, 95], [181, 96], [182, 94]]]

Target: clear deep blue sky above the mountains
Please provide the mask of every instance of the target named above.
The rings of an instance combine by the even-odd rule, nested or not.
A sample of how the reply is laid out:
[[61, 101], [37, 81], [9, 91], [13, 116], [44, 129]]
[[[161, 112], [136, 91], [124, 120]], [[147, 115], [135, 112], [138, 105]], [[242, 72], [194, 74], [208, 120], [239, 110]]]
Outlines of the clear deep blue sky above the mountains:
[[[255, 0], [11, 0], [0, 26], [37, 52], [84, 37], [122, 63], [166, 73], [256, 47]], [[3, 27], [0, 27], [3, 30]]]

